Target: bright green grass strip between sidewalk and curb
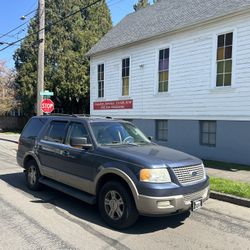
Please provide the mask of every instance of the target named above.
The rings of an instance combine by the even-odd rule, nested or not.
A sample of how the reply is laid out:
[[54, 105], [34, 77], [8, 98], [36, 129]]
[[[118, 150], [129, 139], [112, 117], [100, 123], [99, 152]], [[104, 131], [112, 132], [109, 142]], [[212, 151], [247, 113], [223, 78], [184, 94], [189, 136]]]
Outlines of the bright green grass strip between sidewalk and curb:
[[248, 183], [210, 177], [210, 188], [212, 191], [250, 199], [250, 184]]

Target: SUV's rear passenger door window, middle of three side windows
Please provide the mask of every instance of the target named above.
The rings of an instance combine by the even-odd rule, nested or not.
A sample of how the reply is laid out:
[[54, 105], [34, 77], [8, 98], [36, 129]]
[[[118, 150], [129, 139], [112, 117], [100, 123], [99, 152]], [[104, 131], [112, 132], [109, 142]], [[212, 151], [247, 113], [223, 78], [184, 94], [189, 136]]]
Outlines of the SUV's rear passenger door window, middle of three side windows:
[[47, 141], [63, 143], [63, 139], [66, 132], [66, 126], [67, 122], [51, 122], [44, 139]]

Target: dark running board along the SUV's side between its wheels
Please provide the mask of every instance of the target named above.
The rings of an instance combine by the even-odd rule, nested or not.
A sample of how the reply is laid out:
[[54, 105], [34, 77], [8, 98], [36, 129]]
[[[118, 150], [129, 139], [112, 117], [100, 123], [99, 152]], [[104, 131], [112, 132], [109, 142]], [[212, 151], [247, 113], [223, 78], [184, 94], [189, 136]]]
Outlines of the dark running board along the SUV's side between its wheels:
[[96, 203], [96, 197], [90, 194], [87, 194], [83, 191], [80, 191], [76, 188], [72, 188], [70, 186], [67, 186], [65, 184], [62, 184], [60, 182], [54, 181], [52, 179], [48, 179], [46, 177], [42, 177], [39, 180], [40, 183], [44, 184], [45, 186], [54, 188], [58, 191], [61, 191], [65, 194], [68, 194], [70, 196], [73, 196], [76, 199], [79, 199], [81, 201], [84, 201], [86, 203], [89, 203], [91, 205], [94, 205]]

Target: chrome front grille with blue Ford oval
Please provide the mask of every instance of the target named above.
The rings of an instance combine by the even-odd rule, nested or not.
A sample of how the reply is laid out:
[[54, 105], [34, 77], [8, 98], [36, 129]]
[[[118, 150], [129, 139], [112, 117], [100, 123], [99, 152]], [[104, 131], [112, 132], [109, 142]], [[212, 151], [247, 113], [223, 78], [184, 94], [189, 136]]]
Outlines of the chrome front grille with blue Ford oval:
[[203, 164], [189, 167], [173, 168], [174, 174], [181, 184], [198, 182], [205, 178], [205, 169]]

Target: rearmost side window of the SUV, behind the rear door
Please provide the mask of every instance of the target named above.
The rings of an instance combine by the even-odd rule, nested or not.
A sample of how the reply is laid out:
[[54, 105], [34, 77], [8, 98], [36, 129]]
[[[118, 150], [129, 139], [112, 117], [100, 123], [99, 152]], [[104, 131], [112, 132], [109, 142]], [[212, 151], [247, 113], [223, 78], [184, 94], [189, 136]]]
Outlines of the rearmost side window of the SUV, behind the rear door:
[[29, 120], [22, 132], [22, 138], [35, 139], [46, 121], [47, 119], [44, 118], [33, 118]]

